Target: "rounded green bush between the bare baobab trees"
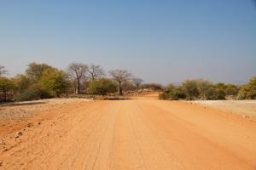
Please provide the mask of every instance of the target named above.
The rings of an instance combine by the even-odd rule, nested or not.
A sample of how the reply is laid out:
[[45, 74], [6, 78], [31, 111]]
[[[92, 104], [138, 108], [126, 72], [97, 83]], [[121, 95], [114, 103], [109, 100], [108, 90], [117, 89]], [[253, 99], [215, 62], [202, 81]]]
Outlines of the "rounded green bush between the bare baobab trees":
[[106, 78], [90, 82], [90, 86], [88, 88], [89, 94], [106, 95], [115, 92], [117, 92], [116, 84]]

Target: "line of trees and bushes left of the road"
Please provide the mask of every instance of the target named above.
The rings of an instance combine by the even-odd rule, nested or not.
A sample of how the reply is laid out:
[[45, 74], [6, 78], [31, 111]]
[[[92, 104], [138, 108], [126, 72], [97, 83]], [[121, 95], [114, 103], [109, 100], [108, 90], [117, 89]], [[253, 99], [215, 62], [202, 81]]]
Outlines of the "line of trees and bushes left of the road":
[[68, 97], [79, 94], [123, 95], [124, 90], [138, 90], [143, 80], [126, 70], [111, 70], [101, 65], [72, 63], [67, 70], [51, 65], [30, 63], [25, 74], [6, 77], [8, 71], [0, 65], [0, 101], [23, 101]]

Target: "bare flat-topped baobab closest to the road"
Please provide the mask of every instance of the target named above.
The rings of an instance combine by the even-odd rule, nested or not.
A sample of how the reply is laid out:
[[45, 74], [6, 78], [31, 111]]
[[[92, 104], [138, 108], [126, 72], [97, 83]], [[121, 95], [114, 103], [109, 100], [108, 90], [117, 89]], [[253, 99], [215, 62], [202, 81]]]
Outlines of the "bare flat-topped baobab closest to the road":
[[131, 79], [131, 73], [125, 70], [112, 70], [109, 71], [109, 75], [113, 77], [113, 80], [118, 82], [118, 93], [119, 95], [123, 95], [122, 83]]

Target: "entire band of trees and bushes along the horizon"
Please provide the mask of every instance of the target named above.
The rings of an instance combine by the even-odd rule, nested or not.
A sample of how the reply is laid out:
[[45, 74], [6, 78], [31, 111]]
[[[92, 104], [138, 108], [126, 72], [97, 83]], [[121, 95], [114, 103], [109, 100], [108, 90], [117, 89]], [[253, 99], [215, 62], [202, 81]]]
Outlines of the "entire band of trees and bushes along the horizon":
[[72, 63], [67, 71], [51, 65], [31, 63], [26, 74], [13, 78], [4, 77], [8, 71], [0, 66], [0, 101], [23, 101], [59, 98], [61, 96], [108, 95], [122, 96], [160, 92], [160, 99], [256, 99], [256, 77], [243, 86], [212, 83], [207, 80], [190, 79], [182, 85], [163, 87], [158, 83], [144, 83], [133, 78], [126, 70], [111, 70], [106, 76], [101, 65]]

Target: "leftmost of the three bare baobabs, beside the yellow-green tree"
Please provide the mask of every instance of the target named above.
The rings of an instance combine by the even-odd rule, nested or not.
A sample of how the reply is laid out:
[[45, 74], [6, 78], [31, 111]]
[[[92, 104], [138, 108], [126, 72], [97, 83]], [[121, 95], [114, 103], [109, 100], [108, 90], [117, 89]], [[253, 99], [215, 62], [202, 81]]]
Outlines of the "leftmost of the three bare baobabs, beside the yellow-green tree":
[[72, 63], [68, 65], [67, 68], [68, 75], [76, 82], [76, 94], [80, 94], [81, 81], [85, 77], [86, 72], [88, 71], [88, 66], [82, 63]]

